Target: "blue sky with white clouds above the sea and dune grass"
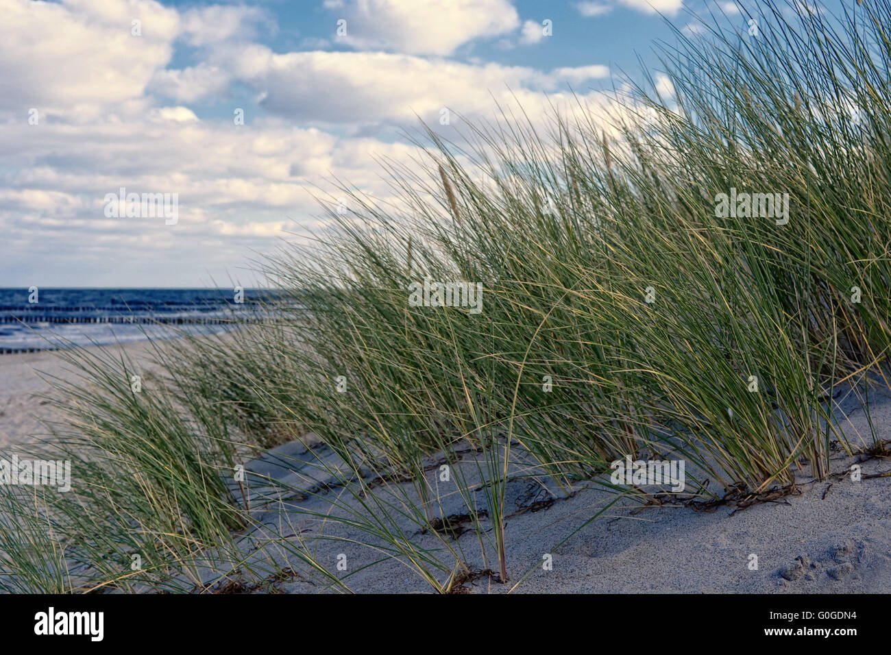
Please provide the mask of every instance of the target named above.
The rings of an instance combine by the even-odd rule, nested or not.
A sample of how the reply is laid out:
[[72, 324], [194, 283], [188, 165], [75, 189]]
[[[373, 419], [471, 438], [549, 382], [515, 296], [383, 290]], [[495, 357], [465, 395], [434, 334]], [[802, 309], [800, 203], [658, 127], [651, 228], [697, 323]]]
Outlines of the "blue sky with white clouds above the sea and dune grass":
[[744, 28], [714, 0], [0, 0], [0, 287], [250, 282], [332, 179], [386, 199], [419, 119], [607, 102], [707, 12]]

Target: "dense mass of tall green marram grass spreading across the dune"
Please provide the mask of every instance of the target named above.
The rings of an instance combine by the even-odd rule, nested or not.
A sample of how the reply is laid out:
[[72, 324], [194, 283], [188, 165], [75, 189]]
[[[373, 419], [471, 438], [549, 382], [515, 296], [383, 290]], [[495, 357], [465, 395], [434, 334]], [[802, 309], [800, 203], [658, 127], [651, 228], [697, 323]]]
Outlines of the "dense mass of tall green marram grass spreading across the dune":
[[[679, 31], [663, 50], [674, 94], [651, 79], [634, 87], [609, 136], [584, 107], [555, 114], [548, 132], [506, 117], [471, 127], [462, 147], [428, 131], [433, 156], [387, 167], [402, 210], [344, 188], [349, 216], [330, 211], [312, 250], [263, 265], [284, 294], [280, 320], [183, 340], [158, 396], [130, 397], [86, 366], [100, 389], [118, 389], [71, 389], [76, 420], [61, 427], [59, 447], [95, 476], [78, 496], [92, 523], [68, 502], [32, 520], [57, 539], [17, 540], [0, 523], [20, 588], [73, 588], [57, 573], [72, 549], [100, 572], [103, 549], [180, 562], [143, 576], [151, 585], [201, 553], [233, 553], [250, 520], [220, 482], [236, 451], [307, 432], [344, 463], [318, 463], [344, 493], [313, 518], [358, 530], [439, 592], [470, 555], [466, 541], [414, 536], [439, 535], [446, 518], [431, 454], [459, 471], [474, 547], [502, 582], [517, 447], [564, 487], [643, 454], [693, 464], [699, 495], [761, 492], [808, 468], [825, 478], [831, 440], [865, 445], [833, 420], [832, 389], [881, 374], [891, 347], [891, 2], [838, 17], [760, 7], [743, 10], [756, 36], [720, 20], [702, 37]], [[788, 193], [788, 221], [716, 215], [732, 189]], [[482, 313], [411, 307], [407, 287], [425, 277], [482, 282]], [[465, 449], [481, 483], [461, 478]], [[113, 539], [86, 538], [94, 526]], [[307, 568], [331, 576], [301, 548]]]

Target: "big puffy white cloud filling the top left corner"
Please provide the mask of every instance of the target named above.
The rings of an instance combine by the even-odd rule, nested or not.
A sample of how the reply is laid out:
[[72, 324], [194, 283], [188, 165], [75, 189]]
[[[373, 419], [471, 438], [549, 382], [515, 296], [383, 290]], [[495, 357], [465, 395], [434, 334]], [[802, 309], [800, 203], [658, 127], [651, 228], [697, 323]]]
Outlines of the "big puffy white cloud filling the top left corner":
[[[243, 6], [210, 5], [182, 14], [153, 0], [0, 0], [0, 110], [89, 121], [110, 106], [138, 109], [146, 94], [195, 102], [224, 94], [228, 74], [200, 62], [168, 70], [177, 40], [217, 46], [243, 39], [266, 20]], [[141, 36], [131, 33], [139, 20]], [[105, 109], [102, 109], [105, 108]]]

